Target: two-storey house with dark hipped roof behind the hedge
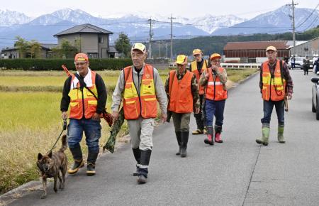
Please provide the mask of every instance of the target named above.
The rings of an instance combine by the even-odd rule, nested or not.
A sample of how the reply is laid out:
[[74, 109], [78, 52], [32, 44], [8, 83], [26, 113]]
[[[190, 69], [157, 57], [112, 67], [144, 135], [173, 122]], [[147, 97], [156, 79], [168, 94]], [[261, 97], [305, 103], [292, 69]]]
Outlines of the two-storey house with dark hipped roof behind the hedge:
[[109, 36], [113, 34], [103, 28], [85, 23], [74, 26], [55, 34], [58, 45], [64, 40], [77, 46], [80, 53], [86, 53], [89, 58], [115, 58], [116, 49], [110, 47]]

